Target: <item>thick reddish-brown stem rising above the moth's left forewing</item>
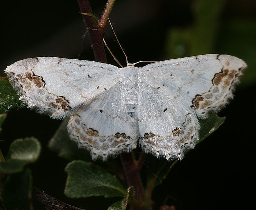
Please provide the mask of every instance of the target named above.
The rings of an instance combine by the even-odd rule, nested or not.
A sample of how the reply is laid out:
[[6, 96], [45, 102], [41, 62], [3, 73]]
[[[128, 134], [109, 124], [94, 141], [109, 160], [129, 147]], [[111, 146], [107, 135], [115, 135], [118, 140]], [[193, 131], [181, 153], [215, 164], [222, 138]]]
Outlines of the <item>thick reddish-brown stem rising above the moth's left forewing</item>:
[[[80, 7], [80, 11], [83, 13], [90, 13], [91, 6], [88, 0], [77, 0], [78, 5]], [[97, 23], [97, 21], [88, 15], [83, 15], [83, 21], [87, 28], [87, 32], [89, 35], [91, 47], [93, 48], [94, 58], [98, 62], [107, 63], [107, 58], [105, 54], [105, 49], [103, 45], [103, 34], [104, 30], [102, 30], [101, 26]]]

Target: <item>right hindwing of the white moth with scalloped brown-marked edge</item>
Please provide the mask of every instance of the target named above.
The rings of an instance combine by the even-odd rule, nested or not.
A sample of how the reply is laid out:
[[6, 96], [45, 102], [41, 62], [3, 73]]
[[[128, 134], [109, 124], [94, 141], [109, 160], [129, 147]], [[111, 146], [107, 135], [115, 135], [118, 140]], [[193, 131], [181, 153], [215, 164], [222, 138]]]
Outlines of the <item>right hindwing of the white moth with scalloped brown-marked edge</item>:
[[138, 97], [140, 145], [168, 161], [182, 159], [198, 140], [199, 123], [192, 110], [141, 79]]

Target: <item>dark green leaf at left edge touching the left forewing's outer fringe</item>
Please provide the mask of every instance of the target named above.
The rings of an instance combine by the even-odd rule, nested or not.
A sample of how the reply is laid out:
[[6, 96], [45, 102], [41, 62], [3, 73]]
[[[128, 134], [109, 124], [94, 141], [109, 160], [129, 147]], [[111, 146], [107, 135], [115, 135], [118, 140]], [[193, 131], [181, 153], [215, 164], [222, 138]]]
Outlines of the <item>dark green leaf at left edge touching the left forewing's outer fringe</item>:
[[8, 79], [0, 77], [0, 114], [25, 107], [26, 105], [19, 100]]

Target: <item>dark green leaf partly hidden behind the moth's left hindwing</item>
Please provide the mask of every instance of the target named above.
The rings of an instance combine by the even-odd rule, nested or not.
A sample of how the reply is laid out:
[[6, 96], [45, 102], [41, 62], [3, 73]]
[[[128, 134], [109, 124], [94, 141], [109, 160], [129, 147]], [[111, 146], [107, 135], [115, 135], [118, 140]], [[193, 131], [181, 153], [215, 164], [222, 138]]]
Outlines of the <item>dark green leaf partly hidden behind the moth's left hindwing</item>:
[[49, 141], [48, 147], [58, 153], [61, 158], [68, 160], [86, 160], [90, 161], [90, 153], [83, 148], [78, 148], [75, 141], [69, 138], [67, 124], [69, 119], [63, 120], [60, 127]]

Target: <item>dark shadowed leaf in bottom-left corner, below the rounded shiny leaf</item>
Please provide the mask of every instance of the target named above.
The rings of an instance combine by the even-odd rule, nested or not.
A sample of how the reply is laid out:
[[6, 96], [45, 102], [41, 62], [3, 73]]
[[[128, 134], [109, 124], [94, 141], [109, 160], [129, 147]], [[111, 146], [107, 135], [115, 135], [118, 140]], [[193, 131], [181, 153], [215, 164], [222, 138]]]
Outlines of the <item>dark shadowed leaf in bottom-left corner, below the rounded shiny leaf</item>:
[[29, 169], [11, 174], [1, 188], [1, 199], [5, 210], [30, 210], [32, 176]]

